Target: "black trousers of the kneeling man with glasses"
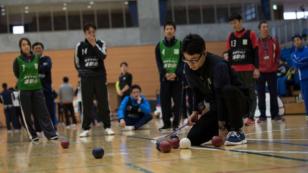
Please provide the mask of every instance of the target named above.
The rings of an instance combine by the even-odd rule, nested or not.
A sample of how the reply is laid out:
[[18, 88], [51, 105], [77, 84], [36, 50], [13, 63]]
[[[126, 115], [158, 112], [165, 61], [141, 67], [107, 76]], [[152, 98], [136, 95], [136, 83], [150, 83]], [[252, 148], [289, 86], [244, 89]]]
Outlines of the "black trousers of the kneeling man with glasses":
[[[243, 117], [249, 114], [252, 109], [253, 100], [245, 96], [237, 87], [225, 85], [221, 90], [225, 100], [229, 122], [226, 122], [227, 129], [240, 129], [243, 127]], [[203, 114], [197, 123], [188, 132], [187, 138], [194, 146], [208, 142], [218, 135], [218, 118], [216, 111], [208, 111]]]

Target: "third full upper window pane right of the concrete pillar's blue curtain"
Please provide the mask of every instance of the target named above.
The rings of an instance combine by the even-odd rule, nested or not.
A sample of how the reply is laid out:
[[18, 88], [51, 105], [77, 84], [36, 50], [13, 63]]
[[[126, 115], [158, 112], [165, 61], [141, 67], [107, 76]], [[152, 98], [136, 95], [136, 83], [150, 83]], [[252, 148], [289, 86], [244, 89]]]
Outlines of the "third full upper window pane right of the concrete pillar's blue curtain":
[[203, 23], [215, 23], [214, 1], [202, 0]]

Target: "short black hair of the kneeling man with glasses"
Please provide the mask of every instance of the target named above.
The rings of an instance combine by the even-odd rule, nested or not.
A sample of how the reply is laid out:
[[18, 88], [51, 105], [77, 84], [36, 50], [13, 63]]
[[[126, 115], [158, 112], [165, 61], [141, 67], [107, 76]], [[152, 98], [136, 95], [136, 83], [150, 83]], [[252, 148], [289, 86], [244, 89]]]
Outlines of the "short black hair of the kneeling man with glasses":
[[189, 33], [182, 41], [181, 52], [189, 55], [202, 54], [205, 50], [205, 41], [198, 34]]

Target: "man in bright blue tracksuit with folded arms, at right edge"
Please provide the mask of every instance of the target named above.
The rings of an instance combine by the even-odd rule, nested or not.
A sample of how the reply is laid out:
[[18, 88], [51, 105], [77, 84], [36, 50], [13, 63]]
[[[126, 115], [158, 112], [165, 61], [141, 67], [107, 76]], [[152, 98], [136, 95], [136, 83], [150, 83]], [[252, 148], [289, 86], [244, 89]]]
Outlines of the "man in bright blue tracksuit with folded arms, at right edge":
[[291, 59], [294, 67], [298, 69], [299, 83], [306, 107], [306, 118], [308, 118], [308, 47], [303, 44], [302, 37], [299, 35], [294, 36], [292, 41], [296, 50], [292, 53]]

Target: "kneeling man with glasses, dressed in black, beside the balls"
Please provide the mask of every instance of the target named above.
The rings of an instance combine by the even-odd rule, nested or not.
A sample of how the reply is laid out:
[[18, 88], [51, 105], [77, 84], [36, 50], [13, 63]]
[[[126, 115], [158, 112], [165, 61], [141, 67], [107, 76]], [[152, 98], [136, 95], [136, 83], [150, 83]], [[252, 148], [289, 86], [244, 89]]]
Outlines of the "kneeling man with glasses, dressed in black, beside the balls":
[[[225, 145], [247, 143], [242, 127], [243, 118], [252, 109], [250, 89], [228, 61], [205, 50], [205, 41], [199, 35], [187, 35], [181, 52], [188, 86], [193, 89], [193, 114], [188, 118], [193, 127], [187, 135], [192, 145], [201, 145], [216, 135]], [[210, 108], [201, 113], [204, 102]]]

